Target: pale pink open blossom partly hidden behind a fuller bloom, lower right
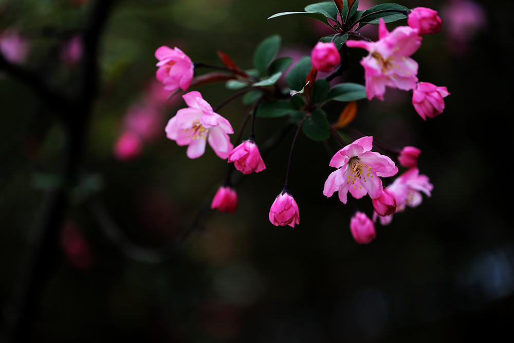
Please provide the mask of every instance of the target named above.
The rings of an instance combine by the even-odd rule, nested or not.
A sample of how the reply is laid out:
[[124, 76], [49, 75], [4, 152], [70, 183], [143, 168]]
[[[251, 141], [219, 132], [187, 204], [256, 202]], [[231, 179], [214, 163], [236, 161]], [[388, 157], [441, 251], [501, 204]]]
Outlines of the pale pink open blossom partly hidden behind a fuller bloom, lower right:
[[[419, 206], [423, 202], [421, 193], [431, 196], [434, 186], [430, 183], [427, 175], [419, 175], [417, 168], [411, 168], [398, 176], [387, 189], [396, 199], [396, 213], [404, 211], [406, 206]], [[375, 216], [374, 220], [376, 220]], [[388, 225], [392, 220], [392, 214], [380, 217], [382, 225]]]

